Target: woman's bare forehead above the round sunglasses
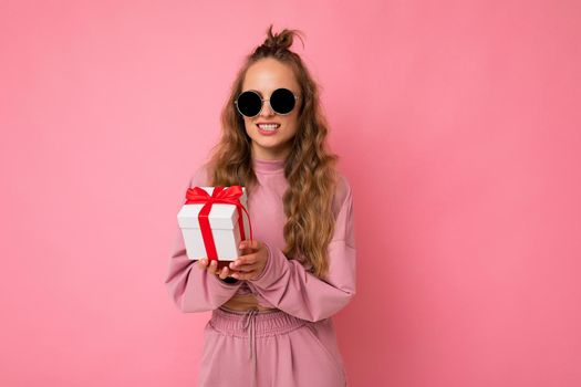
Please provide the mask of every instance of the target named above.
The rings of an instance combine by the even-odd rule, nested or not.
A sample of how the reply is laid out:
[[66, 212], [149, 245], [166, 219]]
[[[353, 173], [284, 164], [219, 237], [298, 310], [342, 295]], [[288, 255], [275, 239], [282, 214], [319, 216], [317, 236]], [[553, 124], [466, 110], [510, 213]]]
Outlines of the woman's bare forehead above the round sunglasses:
[[299, 84], [288, 64], [271, 57], [260, 60], [248, 67], [242, 82], [242, 91], [256, 90], [263, 94], [271, 93], [279, 87], [298, 92]]

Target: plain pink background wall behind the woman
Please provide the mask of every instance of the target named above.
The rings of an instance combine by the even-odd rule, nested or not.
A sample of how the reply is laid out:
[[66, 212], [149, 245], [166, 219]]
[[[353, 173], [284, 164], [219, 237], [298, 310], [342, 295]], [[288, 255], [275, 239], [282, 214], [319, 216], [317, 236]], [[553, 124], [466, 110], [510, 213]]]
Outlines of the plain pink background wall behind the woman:
[[270, 22], [355, 191], [351, 385], [581, 384], [579, 2], [50, 3], [0, 3], [1, 386], [195, 385], [175, 217]]

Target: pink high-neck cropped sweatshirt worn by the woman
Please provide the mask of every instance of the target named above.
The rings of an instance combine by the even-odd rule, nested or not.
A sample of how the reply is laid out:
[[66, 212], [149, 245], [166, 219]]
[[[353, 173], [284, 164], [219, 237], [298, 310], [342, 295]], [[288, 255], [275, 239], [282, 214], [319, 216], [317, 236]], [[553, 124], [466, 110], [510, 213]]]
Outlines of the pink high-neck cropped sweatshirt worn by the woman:
[[[249, 196], [247, 210], [256, 240], [269, 250], [267, 265], [258, 279], [226, 283], [216, 274], [199, 270], [186, 255], [181, 232], [169, 260], [165, 284], [183, 312], [211, 311], [236, 294], [256, 295], [258, 303], [277, 307], [290, 315], [311, 322], [330, 317], [345, 306], [355, 294], [355, 238], [353, 194], [346, 178], [340, 182], [333, 199], [335, 230], [329, 251], [329, 273], [321, 280], [293, 259], [282, 253], [284, 248], [284, 211], [282, 196], [288, 188], [284, 160], [252, 161], [259, 186]], [[210, 186], [205, 166], [198, 168], [188, 187]], [[184, 195], [186, 189], [184, 189]], [[177, 221], [176, 221], [177, 228]]]

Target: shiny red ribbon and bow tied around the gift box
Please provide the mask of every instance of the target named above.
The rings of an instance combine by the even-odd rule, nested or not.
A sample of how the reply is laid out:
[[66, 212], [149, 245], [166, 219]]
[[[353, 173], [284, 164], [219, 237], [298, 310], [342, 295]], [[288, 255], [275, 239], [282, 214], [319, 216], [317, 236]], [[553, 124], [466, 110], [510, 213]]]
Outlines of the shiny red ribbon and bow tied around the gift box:
[[242, 210], [248, 218], [248, 226], [250, 227], [250, 240], [252, 240], [252, 224], [250, 223], [250, 216], [246, 210], [245, 206], [240, 202], [242, 196], [242, 187], [231, 186], [225, 189], [225, 187], [214, 187], [211, 196], [199, 187], [188, 188], [186, 192], [186, 205], [204, 205], [198, 213], [199, 228], [201, 237], [204, 239], [204, 245], [206, 247], [206, 253], [209, 260], [218, 260], [218, 253], [216, 252], [216, 243], [214, 242], [214, 236], [211, 234], [210, 220], [208, 216], [210, 213], [211, 206], [214, 203], [226, 203], [234, 205], [238, 209], [238, 226], [240, 228], [240, 238], [246, 239], [245, 234], [245, 222], [242, 218]]

